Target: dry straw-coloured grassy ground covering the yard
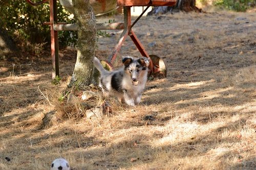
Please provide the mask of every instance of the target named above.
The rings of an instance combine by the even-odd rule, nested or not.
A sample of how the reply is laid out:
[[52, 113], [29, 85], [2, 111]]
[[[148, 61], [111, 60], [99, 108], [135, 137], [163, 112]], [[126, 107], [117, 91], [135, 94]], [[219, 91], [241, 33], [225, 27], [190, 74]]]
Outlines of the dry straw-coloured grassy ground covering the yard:
[[[256, 13], [143, 17], [134, 31], [164, 58], [167, 78], [148, 82], [139, 106], [115, 106], [109, 117], [44, 121], [58, 112], [52, 98], [65, 89], [76, 51], [60, 51], [59, 86], [49, 53], [1, 61], [0, 169], [50, 169], [58, 157], [72, 169], [256, 168]], [[120, 35], [110, 33], [99, 38], [101, 59]], [[130, 39], [119, 63], [122, 55], [140, 56]]]

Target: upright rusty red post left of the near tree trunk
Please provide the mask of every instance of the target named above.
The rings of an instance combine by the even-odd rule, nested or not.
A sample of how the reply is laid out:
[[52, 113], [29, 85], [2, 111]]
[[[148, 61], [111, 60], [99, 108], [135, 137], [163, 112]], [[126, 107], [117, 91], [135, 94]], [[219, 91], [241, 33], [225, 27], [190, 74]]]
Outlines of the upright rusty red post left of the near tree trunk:
[[51, 22], [51, 57], [52, 57], [52, 79], [59, 76], [59, 46], [58, 31], [54, 31], [53, 25], [57, 22], [57, 2], [50, 0], [50, 22]]

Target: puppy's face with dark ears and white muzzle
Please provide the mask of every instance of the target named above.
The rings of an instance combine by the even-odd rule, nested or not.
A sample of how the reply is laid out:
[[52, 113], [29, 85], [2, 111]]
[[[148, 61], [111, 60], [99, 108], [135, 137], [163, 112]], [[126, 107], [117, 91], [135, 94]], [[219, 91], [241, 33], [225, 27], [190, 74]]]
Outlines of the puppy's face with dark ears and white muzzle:
[[130, 74], [133, 85], [137, 86], [139, 84], [139, 75], [142, 71], [147, 70], [150, 60], [146, 57], [138, 59], [132, 57], [124, 57], [122, 62], [126, 74]]

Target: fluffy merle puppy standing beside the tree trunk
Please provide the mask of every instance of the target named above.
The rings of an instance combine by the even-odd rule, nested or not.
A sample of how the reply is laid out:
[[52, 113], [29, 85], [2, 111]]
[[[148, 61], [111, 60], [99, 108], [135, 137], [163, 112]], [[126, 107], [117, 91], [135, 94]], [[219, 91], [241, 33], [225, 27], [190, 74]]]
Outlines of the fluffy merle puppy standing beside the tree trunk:
[[146, 57], [123, 57], [122, 63], [122, 68], [107, 71], [95, 57], [94, 65], [100, 72], [99, 86], [104, 92], [123, 99], [127, 105], [138, 105], [146, 85], [150, 60]]

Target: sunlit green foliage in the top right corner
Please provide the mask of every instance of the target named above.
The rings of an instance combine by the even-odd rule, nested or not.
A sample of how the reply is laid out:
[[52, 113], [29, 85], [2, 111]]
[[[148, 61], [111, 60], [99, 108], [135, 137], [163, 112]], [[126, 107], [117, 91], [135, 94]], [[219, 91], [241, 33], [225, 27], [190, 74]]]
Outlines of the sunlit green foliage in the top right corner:
[[228, 10], [245, 12], [248, 8], [256, 5], [255, 0], [216, 0], [215, 6], [221, 6]]

